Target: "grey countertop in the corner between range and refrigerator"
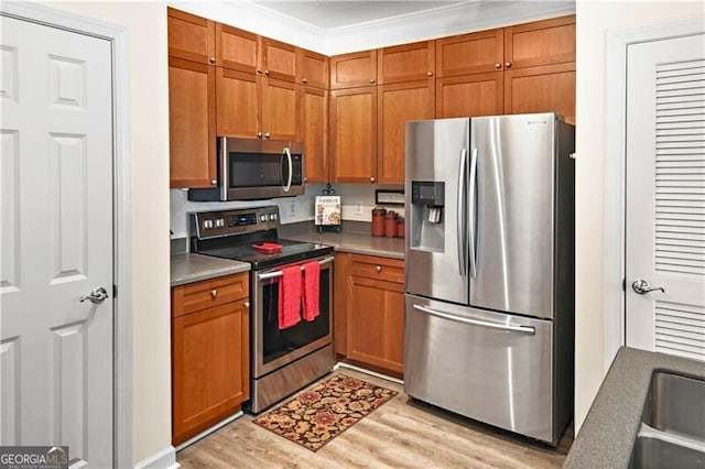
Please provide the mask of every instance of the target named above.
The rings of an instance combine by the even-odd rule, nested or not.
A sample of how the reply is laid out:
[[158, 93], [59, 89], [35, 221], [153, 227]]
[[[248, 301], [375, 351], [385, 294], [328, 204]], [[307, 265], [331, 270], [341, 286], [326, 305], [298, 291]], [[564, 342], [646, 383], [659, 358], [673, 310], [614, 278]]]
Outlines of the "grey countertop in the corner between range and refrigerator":
[[313, 223], [295, 223], [283, 226], [280, 236], [296, 241], [318, 242], [333, 246], [336, 251], [352, 252], [355, 254], [380, 255], [383, 258], [404, 259], [403, 238], [376, 238], [370, 234], [369, 223], [351, 223], [354, 230], [344, 228], [341, 232], [316, 231]]

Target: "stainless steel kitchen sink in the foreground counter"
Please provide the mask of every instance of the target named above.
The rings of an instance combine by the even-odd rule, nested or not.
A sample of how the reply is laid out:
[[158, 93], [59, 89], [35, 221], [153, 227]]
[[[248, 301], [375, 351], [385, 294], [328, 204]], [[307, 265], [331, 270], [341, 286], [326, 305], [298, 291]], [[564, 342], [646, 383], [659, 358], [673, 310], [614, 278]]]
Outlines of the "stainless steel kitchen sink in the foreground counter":
[[630, 468], [705, 468], [705, 381], [654, 371]]

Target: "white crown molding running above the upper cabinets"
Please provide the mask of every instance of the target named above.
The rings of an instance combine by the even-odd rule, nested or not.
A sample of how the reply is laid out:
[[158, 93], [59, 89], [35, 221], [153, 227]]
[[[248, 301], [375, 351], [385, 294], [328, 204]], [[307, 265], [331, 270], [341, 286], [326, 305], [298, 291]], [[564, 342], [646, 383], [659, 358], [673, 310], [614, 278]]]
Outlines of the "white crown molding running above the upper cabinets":
[[575, 13], [574, 0], [474, 0], [349, 26], [323, 29], [249, 0], [170, 1], [169, 6], [325, 55], [426, 41]]

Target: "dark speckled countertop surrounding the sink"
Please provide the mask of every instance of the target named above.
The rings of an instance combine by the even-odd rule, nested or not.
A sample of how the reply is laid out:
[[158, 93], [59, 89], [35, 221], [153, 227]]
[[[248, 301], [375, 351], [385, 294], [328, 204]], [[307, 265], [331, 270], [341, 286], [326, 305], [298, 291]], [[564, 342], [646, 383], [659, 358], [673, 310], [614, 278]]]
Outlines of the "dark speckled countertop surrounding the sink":
[[590, 406], [564, 468], [627, 468], [654, 370], [705, 380], [703, 362], [622, 347]]

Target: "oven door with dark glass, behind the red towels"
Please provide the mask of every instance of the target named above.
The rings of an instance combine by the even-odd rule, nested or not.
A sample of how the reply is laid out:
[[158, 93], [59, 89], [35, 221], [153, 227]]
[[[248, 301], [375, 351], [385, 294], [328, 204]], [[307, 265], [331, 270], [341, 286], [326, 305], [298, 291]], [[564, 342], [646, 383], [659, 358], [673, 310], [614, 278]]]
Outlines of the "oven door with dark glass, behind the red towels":
[[312, 259], [321, 264], [318, 316], [286, 329], [279, 328], [282, 266], [252, 272], [252, 378], [261, 378], [333, 342], [333, 260], [332, 255]]

